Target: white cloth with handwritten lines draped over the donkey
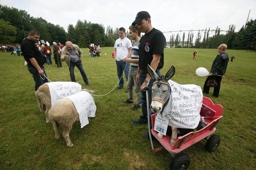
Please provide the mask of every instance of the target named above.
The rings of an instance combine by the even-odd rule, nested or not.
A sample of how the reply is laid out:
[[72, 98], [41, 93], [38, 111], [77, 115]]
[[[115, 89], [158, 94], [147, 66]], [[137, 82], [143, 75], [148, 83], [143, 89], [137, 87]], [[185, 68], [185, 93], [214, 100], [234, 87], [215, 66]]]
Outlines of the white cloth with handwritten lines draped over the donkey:
[[200, 121], [200, 110], [203, 95], [200, 86], [194, 84], [170, 83], [171, 98], [164, 108], [163, 117], [168, 119], [168, 125], [178, 128], [194, 129]]

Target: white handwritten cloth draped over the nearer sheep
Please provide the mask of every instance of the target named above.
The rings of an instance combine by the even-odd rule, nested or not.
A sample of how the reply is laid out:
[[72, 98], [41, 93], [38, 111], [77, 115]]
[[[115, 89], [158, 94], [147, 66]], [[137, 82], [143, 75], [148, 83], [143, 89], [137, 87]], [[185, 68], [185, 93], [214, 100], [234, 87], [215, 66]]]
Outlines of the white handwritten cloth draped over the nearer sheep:
[[89, 123], [88, 117], [94, 117], [96, 112], [96, 105], [90, 93], [81, 91], [72, 96], [66, 97], [70, 99], [79, 114], [81, 128]]

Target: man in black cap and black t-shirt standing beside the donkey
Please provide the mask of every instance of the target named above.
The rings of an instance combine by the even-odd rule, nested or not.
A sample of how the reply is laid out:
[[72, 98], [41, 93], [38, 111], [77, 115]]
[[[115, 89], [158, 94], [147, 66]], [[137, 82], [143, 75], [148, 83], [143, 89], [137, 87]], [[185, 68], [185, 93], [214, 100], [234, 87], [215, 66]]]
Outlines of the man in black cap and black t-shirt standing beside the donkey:
[[[146, 11], [138, 12], [132, 25], [138, 25], [138, 29], [140, 29], [142, 33], [145, 33], [145, 35], [140, 39], [139, 66], [136, 76], [136, 81], [140, 83], [141, 87], [140, 99], [142, 115], [140, 115], [139, 119], [132, 120], [134, 124], [139, 125], [148, 123], [147, 107], [150, 107], [151, 105], [151, 90], [148, 92], [149, 106], [147, 106], [146, 92], [144, 88], [147, 86], [151, 88], [153, 79], [151, 79], [150, 75], [147, 74], [146, 68], [149, 64], [156, 73], [160, 75], [160, 69], [164, 66], [164, 44], [166, 39], [161, 31], [152, 27], [150, 15]], [[149, 110], [151, 112], [150, 108]], [[151, 121], [150, 128], [152, 128]], [[148, 131], [146, 131], [142, 136], [148, 137]]]

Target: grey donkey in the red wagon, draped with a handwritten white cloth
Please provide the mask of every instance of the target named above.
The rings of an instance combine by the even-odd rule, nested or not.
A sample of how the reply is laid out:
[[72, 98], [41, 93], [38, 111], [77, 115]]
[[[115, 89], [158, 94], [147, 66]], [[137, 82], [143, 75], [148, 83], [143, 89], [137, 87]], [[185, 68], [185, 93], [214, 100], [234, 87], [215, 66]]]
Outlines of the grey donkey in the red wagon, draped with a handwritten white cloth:
[[[175, 74], [174, 66], [168, 70], [165, 76], [158, 76], [149, 65], [147, 71], [154, 80], [150, 108], [154, 113], [160, 113], [170, 120], [168, 125], [172, 129], [172, 139], [169, 145], [172, 146], [176, 141], [178, 131], [180, 131], [180, 135], [184, 135], [190, 131], [201, 129], [200, 109], [203, 100], [201, 87], [194, 84], [182, 85], [170, 80]], [[163, 137], [161, 133], [158, 133], [157, 136], [158, 138]]]

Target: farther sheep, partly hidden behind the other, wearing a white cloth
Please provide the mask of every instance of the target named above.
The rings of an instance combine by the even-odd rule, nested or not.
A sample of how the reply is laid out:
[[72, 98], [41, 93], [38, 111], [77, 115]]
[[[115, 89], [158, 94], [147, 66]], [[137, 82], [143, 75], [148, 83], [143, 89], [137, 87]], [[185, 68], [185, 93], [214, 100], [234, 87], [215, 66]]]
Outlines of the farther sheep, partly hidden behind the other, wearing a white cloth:
[[[56, 85], [58, 84], [58, 85]], [[71, 93], [66, 93], [66, 95], [64, 96], [57, 96], [56, 100], [59, 100], [61, 98], [64, 98], [66, 96], [70, 96], [71, 94], [77, 93], [79, 91], [81, 91], [81, 85], [76, 83], [76, 82], [50, 82], [50, 83], [44, 83], [42, 84], [38, 90], [36, 90], [35, 95], [36, 95], [36, 100], [38, 102], [38, 106], [40, 111], [44, 111], [45, 117], [46, 117], [46, 123], [49, 123], [49, 117], [48, 117], [48, 111], [50, 110], [50, 108], [52, 107], [52, 105], [56, 102], [56, 100], [51, 100], [51, 93], [50, 93], [50, 89], [49, 86], [62, 86], [63, 84], [68, 84], [70, 87], [74, 87], [76, 86], [75, 89], [72, 89]], [[67, 85], [67, 86], [68, 86]], [[60, 91], [60, 88], [57, 88], [55, 90]], [[87, 89], [83, 89], [83, 91], [89, 92], [89, 93], [93, 93], [94, 91], [91, 90], [87, 90]]]

